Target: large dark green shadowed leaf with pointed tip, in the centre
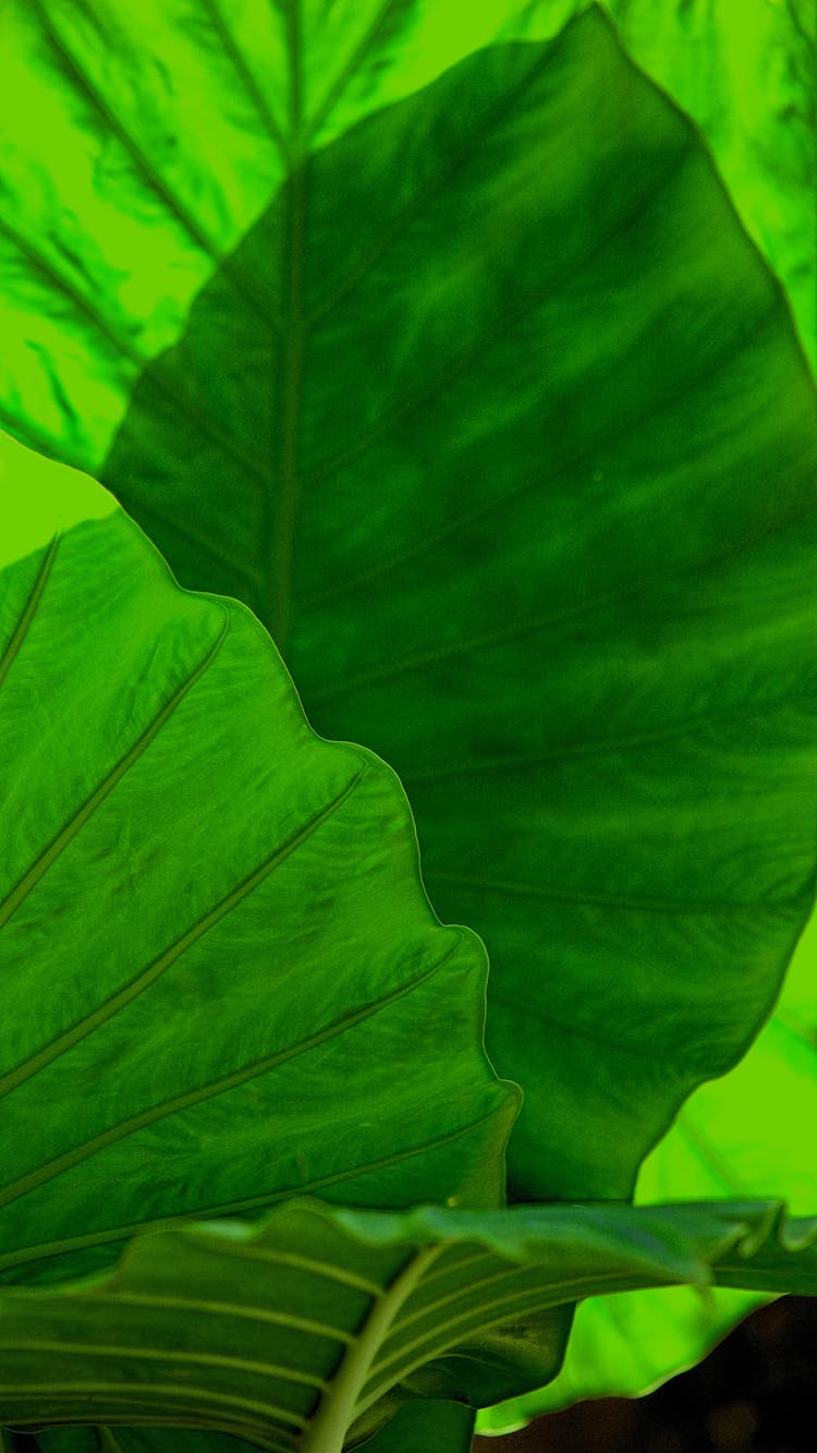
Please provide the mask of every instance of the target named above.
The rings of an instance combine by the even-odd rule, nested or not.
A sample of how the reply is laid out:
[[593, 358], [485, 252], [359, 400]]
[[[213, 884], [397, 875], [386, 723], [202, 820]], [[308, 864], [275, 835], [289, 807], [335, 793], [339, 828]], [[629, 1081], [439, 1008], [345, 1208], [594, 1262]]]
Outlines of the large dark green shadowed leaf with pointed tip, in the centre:
[[216, 278], [104, 478], [399, 772], [434, 902], [489, 946], [512, 1194], [627, 1196], [813, 899], [814, 392], [598, 10], [303, 167], [232, 259], [283, 333]]

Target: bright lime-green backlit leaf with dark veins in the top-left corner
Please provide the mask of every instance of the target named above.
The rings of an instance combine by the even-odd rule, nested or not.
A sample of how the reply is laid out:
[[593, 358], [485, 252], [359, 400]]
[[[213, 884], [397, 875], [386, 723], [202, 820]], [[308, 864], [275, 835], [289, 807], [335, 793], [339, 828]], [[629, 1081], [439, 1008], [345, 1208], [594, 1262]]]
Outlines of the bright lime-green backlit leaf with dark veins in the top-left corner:
[[[505, 35], [553, 35], [572, 7], [4, 0], [0, 423], [96, 472], [218, 269], [255, 327], [280, 323], [268, 278], [232, 251], [287, 174], [296, 105], [325, 145]], [[229, 448], [218, 420], [199, 426]]]

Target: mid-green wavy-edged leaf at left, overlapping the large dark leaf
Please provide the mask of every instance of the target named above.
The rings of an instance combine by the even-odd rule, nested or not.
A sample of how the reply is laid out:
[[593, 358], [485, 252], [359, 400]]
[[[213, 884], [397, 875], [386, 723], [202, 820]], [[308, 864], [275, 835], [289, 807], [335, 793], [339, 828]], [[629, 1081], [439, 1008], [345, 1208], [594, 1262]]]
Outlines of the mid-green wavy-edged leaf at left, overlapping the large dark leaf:
[[431, 912], [393, 773], [99, 485], [0, 465], [3, 1280], [293, 1190], [496, 1205], [485, 950]]

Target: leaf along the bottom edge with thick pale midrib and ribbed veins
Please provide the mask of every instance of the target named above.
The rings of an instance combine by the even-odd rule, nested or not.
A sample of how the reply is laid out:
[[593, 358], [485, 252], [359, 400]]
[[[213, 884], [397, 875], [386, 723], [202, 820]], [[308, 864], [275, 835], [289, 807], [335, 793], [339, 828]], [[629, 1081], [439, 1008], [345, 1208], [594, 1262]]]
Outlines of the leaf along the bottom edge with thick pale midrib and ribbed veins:
[[[576, 1295], [713, 1280], [817, 1292], [817, 1218], [776, 1203], [389, 1213], [293, 1200], [261, 1226], [136, 1237], [113, 1274], [3, 1292], [0, 1418], [93, 1408], [113, 1427], [149, 1418], [340, 1453], [406, 1398], [480, 1407], [541, 1376], [543, 1328]], [[525, 1338], [530, 1366], [511, 1372]], [[553, 1344], [550, 1360], [553, 1373]]]

